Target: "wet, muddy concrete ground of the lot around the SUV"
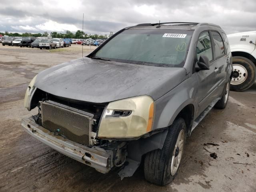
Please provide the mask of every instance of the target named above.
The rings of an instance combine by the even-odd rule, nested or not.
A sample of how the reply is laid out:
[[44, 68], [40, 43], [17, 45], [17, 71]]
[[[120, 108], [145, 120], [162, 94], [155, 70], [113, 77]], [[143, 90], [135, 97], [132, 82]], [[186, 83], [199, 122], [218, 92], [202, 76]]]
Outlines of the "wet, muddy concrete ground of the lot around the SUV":
[[[86, 55], [90, 47], [84, 47]], [[1, 192], [256, 191], [255, 85], [246, 92], [231, 92], [226, 109], [210, 111], [187, 139], [178, 176], [164, 187], [148, 183], [142, 166], [121, 181], [117, 170], [101, 174], [26, 134], [20, 120], [36, 114], [23, 107], [28, 82], [49, 66], [82, 57], [81, 48], [72, 45], [49, 52], [0, 44]], [[210, 157], [204, 148], [218, 157]]]

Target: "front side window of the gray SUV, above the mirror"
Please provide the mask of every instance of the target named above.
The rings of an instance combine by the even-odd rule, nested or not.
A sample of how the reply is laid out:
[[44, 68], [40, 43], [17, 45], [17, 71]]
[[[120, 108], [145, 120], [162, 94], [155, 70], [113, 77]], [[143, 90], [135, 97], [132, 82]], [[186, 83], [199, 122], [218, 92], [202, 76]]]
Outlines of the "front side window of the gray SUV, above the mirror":
[[212, 60], [212, 44], [209, 32], [203, 32], [200, 34], [196, 45], [196, 54], [198, 60], [201, 55], [206, 56], [209, 61]]

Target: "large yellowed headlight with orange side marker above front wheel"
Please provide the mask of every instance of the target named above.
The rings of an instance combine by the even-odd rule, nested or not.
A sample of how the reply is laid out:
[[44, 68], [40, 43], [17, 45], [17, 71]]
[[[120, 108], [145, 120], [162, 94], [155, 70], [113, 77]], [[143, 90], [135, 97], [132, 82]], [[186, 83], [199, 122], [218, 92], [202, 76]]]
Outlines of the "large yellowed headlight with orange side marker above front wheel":
[[110, 102], [102, 115], [98, 137], [128, 139], [140, 137], [152, 129], [154, 100], [138, 96]]

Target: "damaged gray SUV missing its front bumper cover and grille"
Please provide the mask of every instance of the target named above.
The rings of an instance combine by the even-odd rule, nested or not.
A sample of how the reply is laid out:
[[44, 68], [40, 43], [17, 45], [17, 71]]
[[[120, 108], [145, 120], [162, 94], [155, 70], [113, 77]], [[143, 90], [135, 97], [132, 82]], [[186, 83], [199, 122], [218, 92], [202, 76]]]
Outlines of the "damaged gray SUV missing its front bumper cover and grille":
[[146, 180], [170, 183], [186, 137], [212, 107], [228, 102], [232, 59], [225, 32], [208, 23], [138, 24], [84, 58], [30, 82], [22, 119], [34, 138], [121, 178], [144, 161]]

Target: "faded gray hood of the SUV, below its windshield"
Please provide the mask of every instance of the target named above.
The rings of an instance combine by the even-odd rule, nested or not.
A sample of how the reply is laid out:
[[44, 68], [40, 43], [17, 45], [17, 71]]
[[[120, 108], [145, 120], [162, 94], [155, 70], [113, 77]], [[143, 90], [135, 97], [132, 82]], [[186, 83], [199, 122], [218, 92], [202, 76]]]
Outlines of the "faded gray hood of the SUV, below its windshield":
[[81, 58], [40, 72], [35, 86], [74, 100], [105, 103], [148, 95], [154, 100], [186, 79], [184, 68]]

